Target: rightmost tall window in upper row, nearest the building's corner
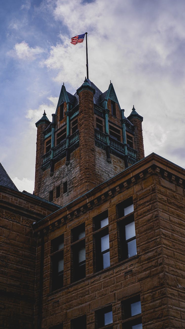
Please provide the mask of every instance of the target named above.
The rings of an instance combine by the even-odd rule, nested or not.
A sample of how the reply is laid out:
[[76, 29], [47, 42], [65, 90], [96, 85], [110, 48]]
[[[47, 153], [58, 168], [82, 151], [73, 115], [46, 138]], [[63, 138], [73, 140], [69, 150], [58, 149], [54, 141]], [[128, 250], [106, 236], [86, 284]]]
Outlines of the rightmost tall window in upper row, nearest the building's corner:
[[[117, 205], [117, 214], [124, 218], [118, 222], [120, 260], [137, 255], [133, 201], [129, 198]], [[129, 215], [131, 214], [131, 215]]]

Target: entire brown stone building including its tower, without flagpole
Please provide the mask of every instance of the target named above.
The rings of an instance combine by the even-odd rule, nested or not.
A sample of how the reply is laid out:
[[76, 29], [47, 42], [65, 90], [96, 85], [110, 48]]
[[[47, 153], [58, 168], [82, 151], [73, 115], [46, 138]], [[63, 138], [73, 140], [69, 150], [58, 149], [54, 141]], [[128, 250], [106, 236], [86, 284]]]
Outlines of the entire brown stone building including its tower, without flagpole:
[[185, 328], [185, 170], [144, 158], [112, 84], [36, 123], [35, 195], [0, 167], [0, 328]]

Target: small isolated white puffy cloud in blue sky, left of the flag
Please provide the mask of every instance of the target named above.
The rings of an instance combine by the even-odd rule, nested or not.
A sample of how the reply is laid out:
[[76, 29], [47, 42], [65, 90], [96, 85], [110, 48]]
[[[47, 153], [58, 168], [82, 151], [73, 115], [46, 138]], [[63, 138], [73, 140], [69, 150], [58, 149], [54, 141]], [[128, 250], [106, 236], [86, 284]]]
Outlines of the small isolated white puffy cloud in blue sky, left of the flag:
[[8, 55], [18, 59], [18, 60], [25, 60], [25, 61], [33, 61], [36, 55], [40, 55], [44, 52], [44, 49], [41, 47], [36, 46], [32, 48], [29, 44], [25, 41], [20, 43], [16, 43], [14, 49], [8, 52]]

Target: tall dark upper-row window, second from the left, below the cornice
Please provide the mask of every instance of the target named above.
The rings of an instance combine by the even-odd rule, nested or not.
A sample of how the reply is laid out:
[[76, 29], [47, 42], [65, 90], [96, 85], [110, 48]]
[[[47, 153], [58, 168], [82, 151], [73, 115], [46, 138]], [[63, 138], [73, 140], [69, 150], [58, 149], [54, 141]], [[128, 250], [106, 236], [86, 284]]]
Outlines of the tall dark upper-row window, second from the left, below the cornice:
[[85, 223], [72, 230], [72, 281], [85, 277]]

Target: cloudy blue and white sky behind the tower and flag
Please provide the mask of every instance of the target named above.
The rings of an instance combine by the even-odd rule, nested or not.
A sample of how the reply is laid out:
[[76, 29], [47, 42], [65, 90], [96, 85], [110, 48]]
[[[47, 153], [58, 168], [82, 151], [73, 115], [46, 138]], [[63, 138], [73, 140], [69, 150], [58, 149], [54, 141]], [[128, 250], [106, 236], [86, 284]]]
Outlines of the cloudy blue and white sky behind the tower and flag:
[[61, 85], [74, 94], [86, 76], [114, 86], [125, 116], [143, 116], [145, 156], [185, 167], [184, 0], [2, 0], [0, 162], [17, 188], [33, 192], [36, 127], [52, 120]]

